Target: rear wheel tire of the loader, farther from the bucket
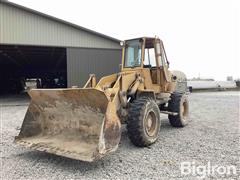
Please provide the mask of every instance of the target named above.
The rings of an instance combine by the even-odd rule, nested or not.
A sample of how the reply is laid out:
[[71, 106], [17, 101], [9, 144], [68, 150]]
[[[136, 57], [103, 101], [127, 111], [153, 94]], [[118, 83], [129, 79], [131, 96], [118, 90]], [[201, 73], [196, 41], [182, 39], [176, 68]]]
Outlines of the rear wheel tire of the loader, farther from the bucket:
[[169, 122], [173, 127], [184, 127], [188, 124], [189, 102], [187, 95], [173, 93], [168, 102], [168, 110], [178, 113], [176, 116], [168, 115]]

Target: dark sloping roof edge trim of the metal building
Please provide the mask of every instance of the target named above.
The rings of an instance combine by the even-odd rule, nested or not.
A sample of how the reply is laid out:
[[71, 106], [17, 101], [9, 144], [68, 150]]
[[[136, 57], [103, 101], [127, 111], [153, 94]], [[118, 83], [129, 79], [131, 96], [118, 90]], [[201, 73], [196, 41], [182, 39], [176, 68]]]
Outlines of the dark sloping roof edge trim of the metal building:
[[93, 34], [93, 35], [97, 35], [97, 36], [99, 36], [99, 37], [103, 37], [103, 38], [105, 38], [105, 39], [108, 39], [108, 40], [111, 40], [111, 41], [114, 41], [114, 42], [120, 42], [120, 41], [121, 41], [121, 40], [119, 40], [119, 39], [116, 39], [116, 38], [107, 36], [107, 35], [105, 35], [105, 34], [102, 34], [102, 33], [99, 33], [99, 32], [96, 32], [96, 31], [93, 31], [93, 30], [90, 30], [90, 29], [87, 29], [87, 28], [85, 28], [85, 27], [82, 27], [82, 26], [79, 26], [79, 25], [76, 25], [76, 24], [73, 24], [73, 23], [64, 21], [64, 20], [59, 19], [59, 18], [56, 18], [56, 17], [54, 17], [54, 16], [50, 16], [50, 15], [44, 14], [44, 13], [42, 13], [42, 12], [39, 12], [39, 11], [30, 9], [30, 8], [27, 8], [27, 7], [25, 7], [25, 6], [21, 6], [21, 5], [19, 5], [19, 4], [15, 4], [15, 3], [13, 3], [13, 2], [9, 2], [9, 1], [7, 1], [7, 0], [0, 0], [0, 3], [4, 3], [4, 4], [10, 5], [10, 6], [13, 6], [13, 7], [15, 7], [15, 8], [18, 8], [18, 9], [21, 9], [21, 10], [24, 10], [24, 11], [27, 11], [27, 12], [30, 12], [30, 13], [33, 13], [33, 14], [36, 14], [36, 15], [39, 15], [39, 16], [48, 18], [48, 19], [51, 19], [51, 20], [53, 20], [53, 21], [56, 21], [56, 22], [59, 22], [59, 23], [62, 23], [62, 24], [65, 24], [65, 25], [74, 27], [74, 28], [76, 28], [76, 29], [79, 29], [79, 30], [82, 30], [82, 31], [91, 33], [91, 34]]

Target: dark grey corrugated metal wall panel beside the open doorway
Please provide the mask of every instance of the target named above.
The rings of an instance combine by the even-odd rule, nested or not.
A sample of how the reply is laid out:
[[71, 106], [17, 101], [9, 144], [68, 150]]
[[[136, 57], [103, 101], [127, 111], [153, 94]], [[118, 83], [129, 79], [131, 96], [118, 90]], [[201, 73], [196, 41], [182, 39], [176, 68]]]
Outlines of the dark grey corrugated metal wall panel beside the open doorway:
[[121, 50], [67, 48], [68, 87], [83, 86], [89, 74], [100, 77], [119, 72]]

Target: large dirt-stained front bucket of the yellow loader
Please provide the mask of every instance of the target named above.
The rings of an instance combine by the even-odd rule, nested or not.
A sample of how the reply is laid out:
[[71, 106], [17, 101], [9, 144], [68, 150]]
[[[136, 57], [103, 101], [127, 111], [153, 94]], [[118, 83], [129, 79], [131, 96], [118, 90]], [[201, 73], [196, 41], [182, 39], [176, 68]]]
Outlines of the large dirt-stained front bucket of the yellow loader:
[[17, 144], [89, 162], [117, 149], [121, 124], [103, 91], [36, 89], [29, 95]]

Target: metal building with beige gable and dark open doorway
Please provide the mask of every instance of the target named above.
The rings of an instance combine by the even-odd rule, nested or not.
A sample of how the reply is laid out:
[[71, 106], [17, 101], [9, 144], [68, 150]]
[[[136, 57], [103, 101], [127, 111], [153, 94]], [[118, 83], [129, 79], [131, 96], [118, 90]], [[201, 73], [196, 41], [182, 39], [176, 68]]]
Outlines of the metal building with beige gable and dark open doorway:
[[63, 87], [82, 86], [90, 73], [101, 77], [118, 71], [119, 43], [84, 27], [0, 1], [0, 81], [5, 87], [20, 78], [65, 78]]

